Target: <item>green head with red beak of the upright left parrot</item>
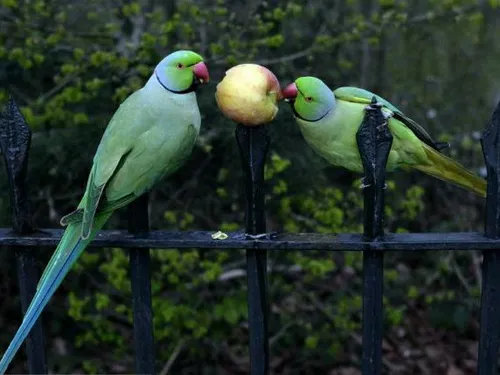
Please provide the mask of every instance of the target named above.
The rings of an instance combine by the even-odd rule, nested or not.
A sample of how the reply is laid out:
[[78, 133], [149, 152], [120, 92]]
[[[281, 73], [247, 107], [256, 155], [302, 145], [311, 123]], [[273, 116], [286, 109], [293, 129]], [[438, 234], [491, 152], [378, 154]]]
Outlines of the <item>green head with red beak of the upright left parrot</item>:
[[203, 57], [192, 51], [176, 51], [165, 57], [155, 68], [158, 82], [178, 94], [194, 91], [209, 80]]

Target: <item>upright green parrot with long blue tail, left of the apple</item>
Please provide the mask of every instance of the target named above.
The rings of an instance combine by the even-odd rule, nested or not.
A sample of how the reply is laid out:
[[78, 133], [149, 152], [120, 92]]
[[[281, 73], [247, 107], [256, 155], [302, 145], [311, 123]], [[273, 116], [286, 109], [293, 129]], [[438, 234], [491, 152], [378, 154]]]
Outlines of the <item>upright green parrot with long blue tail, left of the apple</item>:
[[0, 374], [5, 373], [43, 308], [113, 211], [151, 189], [189, 157], [201, 123], [195, 90], [208, 80], [200, 55], [173, 52], [115, 112], [97, 148], [78, 208], [61, 219], [68, 227], [0, 361]]

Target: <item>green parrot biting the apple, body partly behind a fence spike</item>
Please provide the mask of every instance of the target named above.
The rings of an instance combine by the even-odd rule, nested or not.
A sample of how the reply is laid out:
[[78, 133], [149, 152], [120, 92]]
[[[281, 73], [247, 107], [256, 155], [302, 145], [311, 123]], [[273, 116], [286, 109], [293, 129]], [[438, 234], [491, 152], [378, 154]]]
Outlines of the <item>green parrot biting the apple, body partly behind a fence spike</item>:
[[316, 77], [300, 77], [283, 89], [282, 94], [291, 103], [307, 143], [329, 163], [363, 172], [356, 132], [375, 96], [393, 135], [387, 171], [415, 168], [486, 196], [486, 180], [443, 155], [440, 150], [447, 145], [435, 142], [425, 129], [380, 96], [357, 87], [340, 87], [332, 92]]

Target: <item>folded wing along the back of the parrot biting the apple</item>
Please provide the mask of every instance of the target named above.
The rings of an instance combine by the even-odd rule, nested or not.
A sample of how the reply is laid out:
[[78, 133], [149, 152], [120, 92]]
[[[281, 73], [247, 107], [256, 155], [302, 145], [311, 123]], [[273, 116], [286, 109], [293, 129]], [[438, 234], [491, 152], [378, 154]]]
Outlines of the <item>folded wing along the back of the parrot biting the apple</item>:
[[394, 106], [381, 96], [378, 96], [377, 94], [374, 94], [365, 89], [350, 86], [339, 87], [338, 89], [333, 91], [333, 93], [337, 99], [366, 105], [369, 105], [372, 101], [372, 98], [375, 97], [375, 99], [377, 99], [377, 102], [381, 103], [385, 108], [392, 111], [394, 113], [393, 117], [406, 125], [422, 142], [428, 144], [438, 151], [442, 150], [443, 148], [449, 147], [449, 144], [446, 142], [434, 141], [434, 139], [432, 139], [429, 133], [427, 133], [427, 131], [422, 126], [417, 124], [411, 118], [405, 116], [403, 112], [401, 112], [396, 106]]

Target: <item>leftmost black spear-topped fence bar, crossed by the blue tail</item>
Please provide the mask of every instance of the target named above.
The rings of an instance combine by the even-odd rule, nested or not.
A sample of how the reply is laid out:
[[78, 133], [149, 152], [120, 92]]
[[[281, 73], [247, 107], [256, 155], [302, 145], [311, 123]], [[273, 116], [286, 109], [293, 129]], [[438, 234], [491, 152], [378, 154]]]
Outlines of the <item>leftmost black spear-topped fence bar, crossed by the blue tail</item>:
[[[9, 99], [5, 113], [0, 117], [0, 148], [2, 149], [9, 181], [12, 227], [19, 235], [33, 233], [26, 173], [31, 144], [31, 131], [13, 98]], [[38, 272], [33, 250], [16, 251], [17, 274], [21, 294], [22, 314], [36, 292]], [[26, 338], [28, 370], [31, 374], [47, 373], [47, 356], [41, 319], [38, 319]]]

